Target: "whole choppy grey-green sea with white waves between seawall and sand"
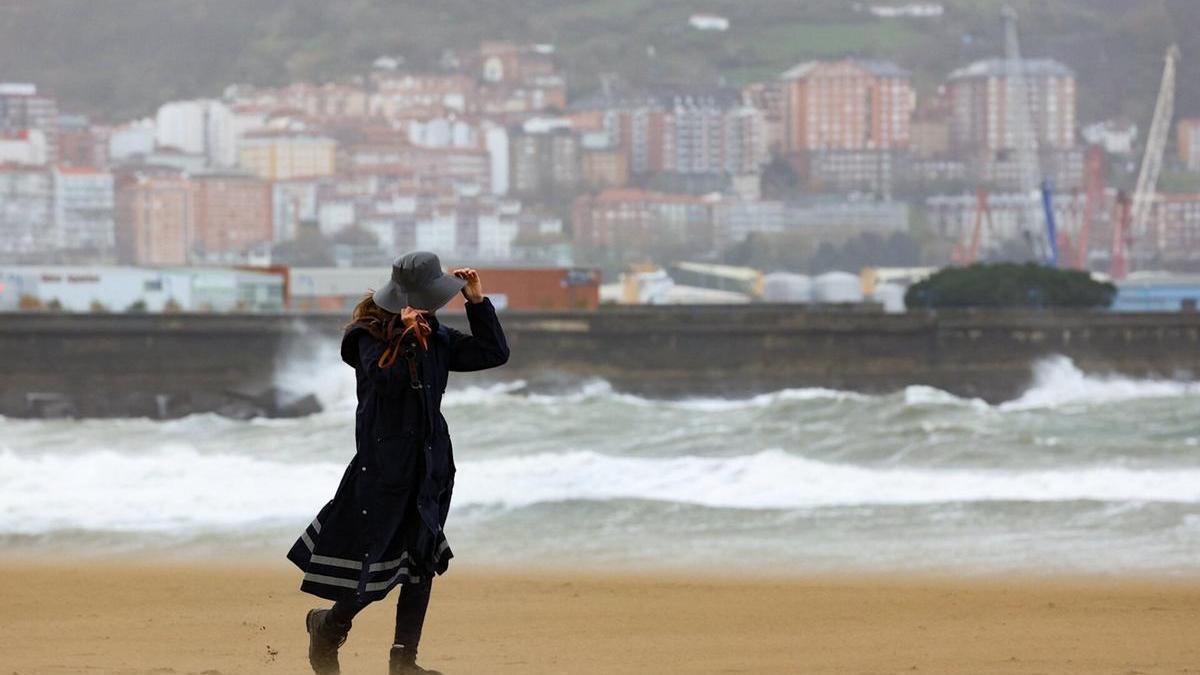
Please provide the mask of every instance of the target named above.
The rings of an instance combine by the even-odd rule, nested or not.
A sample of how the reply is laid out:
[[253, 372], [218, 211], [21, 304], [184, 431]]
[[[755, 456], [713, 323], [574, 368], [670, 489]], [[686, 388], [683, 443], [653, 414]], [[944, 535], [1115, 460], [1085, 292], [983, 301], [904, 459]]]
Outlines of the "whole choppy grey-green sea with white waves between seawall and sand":
[[[330, 350], [302, 419], [0, 418], [0, 550], [283, 555], [353, 454]], [[1200, 387], [1039, 365], [1001, 406], [925, 387], [658, 401], [454, 376], [448, 533], [482, 565], [1200, 572]]]

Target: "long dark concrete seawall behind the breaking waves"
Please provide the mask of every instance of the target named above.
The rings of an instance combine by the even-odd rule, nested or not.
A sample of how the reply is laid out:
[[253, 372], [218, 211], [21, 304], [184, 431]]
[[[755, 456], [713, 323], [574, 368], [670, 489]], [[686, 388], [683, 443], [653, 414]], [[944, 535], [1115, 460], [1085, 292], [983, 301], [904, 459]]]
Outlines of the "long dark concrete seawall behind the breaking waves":
[[[226, 411], [241, 396], [260, 396], [287, 359], [316, 358], [346, 319], [0, 313], [0, 414]], [[461, 315], [444, 321], [464, 328]], [[1085, 372], [1200, 374], [1195, 312], [878, 315], [744, 305], [508, 312], [502, 321], [510, 363], [470, 377], [521, 377], [534, 387], [600, 377], [661, 396], [928, 384], [1000, 401], [1019, 395], [1032, 365], [1051, 354], [1072, 358]]]

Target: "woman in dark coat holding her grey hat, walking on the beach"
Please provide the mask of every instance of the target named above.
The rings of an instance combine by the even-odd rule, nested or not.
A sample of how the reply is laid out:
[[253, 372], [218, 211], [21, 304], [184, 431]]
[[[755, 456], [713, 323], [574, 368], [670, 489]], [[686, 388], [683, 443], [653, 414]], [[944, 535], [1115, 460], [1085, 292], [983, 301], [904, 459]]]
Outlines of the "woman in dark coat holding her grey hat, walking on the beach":
[[[470, 335], [434, 316], [458, 292], [467, 298]], [[416, 665], [416, 644], [432, 578], [452, 557], [442, 531], [455, 474], [442, 393], [449, 371], [494, 368], [508, 358], [479, 273], [445, 274], [433, 253], [396, 258], [388, 283], [354, 307], [342, 360], [358, 377], [356, 453], [334, 498], [288, 551], [305, 573], [300, 590], [334, 601], [305, 619], [316, 673], [338, 673], [337, 649], [354, 615], [397, 584], [390, 673], [436, 673]]]

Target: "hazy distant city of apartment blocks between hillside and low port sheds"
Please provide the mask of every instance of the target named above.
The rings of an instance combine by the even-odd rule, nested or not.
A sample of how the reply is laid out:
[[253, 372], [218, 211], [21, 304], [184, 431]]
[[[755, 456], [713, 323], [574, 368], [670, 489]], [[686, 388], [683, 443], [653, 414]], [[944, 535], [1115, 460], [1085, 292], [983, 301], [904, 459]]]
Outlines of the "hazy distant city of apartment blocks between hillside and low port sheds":
[[[739, 89], [572, 98], [554, 46], [485, 41], [434, 71], [380, 56], [346, 80], [232, 84], [115, 125], [5, 83], [0, 264], [378, 268], [426, 249], [606, 279], [682, 262], [857, 274], [961, 262], [972, 237], [973, 259], [1020, 258], [1007, 66], [962, 64], [922, 97], [901, 64], [846, 58]], [[1068, 64], [1021, 72], [1068, 263], [1106, 271], [1148, 120], [1081, 124]], [[1140, 268], [1200, 270], [1198, 131], [1175, 124]]]

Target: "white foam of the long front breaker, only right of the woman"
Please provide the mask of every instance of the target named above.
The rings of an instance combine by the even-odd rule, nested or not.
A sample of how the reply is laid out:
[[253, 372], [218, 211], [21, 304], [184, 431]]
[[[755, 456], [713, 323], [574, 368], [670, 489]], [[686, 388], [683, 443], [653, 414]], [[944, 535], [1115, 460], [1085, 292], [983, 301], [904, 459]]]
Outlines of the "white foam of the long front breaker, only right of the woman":
[[636, 498], [720, 508], [806, 508], [980, 501], [1200, 501], [1200, 468], [1042, 471], [838, 465], [766, 450], [736, 458], [619, 458], [593, 452], [474, 462], [464, 501], [505, 507]]

